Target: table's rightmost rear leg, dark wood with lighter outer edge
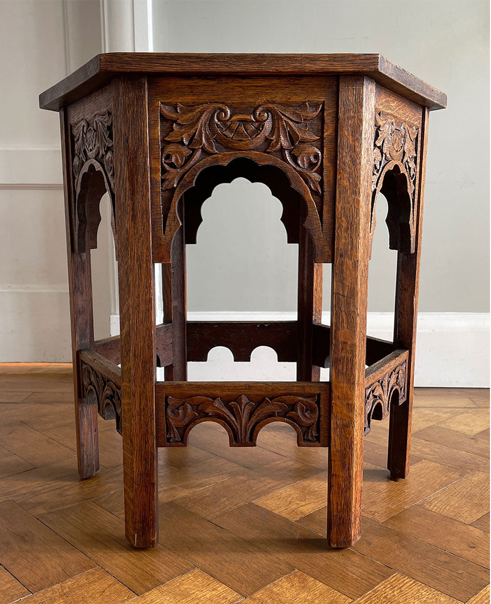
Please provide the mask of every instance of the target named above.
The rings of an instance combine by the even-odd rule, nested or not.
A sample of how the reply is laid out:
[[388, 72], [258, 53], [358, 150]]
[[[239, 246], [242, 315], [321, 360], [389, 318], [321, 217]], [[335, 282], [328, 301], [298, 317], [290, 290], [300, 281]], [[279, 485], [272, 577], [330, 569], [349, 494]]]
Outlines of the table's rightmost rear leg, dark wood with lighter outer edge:
[[398, 252], [394, 344], [409, 350], [407, 399], [390, 408], [387, 467], [391, 478], [405, 478], [409, 472], [411, 446], [411, 416], [414, 392], [414, 353], [416, 351], [417, 303], [419, 265], [426, 173], [426, 140], [428, 139], [428, 109], [423, 109], [423, 133], [420, 144], [419, 188], [417, 190], [416, 250], [413, 254]]

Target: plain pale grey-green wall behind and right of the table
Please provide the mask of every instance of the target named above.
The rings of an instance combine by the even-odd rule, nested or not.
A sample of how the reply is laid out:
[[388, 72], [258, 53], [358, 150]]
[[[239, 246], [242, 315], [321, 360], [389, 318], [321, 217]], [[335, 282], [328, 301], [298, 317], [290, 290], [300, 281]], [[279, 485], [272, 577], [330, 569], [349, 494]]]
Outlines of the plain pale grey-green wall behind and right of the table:
[[[426, 207], [420, 287], [422, 312], [489, 310], [489, 2], [413, 1], [165, 1], [154, 0], [154, 50], [210, 53], [382, 53], [448, 94], [445, 111], [429, 123]], [[239, 207], [252, 186], [229, 185]], [[217, 196], [219, 193], [216, 193]], [[220, 195], [225, 195], [220, 193]], [[296, 266], [282, 266], [282, 234], [271, 231], [268, 193], [258, 214], [256, 239], [274, 262], [226, 231], [220, 232], [223, 279], [201, 262], [220, 252], [211, 236], [200, 253], [189, 249], [190, 310], [293, 310], [292, 298], [267, 288], [242, 292], [247, 265], [276, 265], [275, 288], [289, 290]], [[223, 203], [226, 203], [224, 200]], [[220, 204], [209, 210], [217, 222]], [[369, 310], [393, 310], [395, 253], [387, 249], [385, 201], [378, 203], [378, 233], [370, 263]], [[204, 205], [206, 211], [206, 204]], [[238, 217], [240, 223], [243, 214]], [[204, 228], [204, 225], [203, 227]], [[382, 231], [382, 233], [380, 233]], [[191, 246], [189, 246], [191, 248]], [[208, 261], [210, 262], [210, 260]], [[272, 269], [271, 269], [272, 270]], [[325, 309], [329, 308], [326, 275]]]

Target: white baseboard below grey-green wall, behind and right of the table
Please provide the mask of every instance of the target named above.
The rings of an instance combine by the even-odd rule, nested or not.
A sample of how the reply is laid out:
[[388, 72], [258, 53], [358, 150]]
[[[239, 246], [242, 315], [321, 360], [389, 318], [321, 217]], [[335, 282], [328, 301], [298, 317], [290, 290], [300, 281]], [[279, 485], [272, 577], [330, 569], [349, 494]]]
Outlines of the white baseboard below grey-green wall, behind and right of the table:
[[[189, 321], [291, 321], [289, 312], [189, 312]], [[157, 318], [159, 320], [159, 318]], [[160, 319], [161, 320], [161, 319]], [[329, 312], [323, 313], [329, 324]], [[119, 332], [119, 316], [111, 317], [112, 335]], [[370, 312], [367, 333], [392, 338], [393, 314]], [[321, 379], [327, 379], [322, 370]], [[159, 376], [160, 379], [160, 376]], [[232, 353], [215, 349], [206, 363], [189, 364], [193, 380], [294, 379], [293, 363], [278, 363], [276, 353], [256, 349], [250, 363], [232, 362]], [[423, 387], [489, 387], [489, 313], [423, 312], [418, 315], [416, 374], [414, 384]]]

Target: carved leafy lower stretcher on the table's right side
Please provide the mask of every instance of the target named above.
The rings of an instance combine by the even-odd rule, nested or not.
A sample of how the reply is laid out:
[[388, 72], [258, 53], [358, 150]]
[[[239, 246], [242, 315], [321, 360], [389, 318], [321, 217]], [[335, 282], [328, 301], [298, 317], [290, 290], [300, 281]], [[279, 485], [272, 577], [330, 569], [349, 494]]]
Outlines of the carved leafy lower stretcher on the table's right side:
[[370, 432], [372, 419], [381, 420], [387, 417], [390, 400], [394, 392], [399, 393], [399, 405], [406, 400], [407, 362], [387, 371], [384, 376], [365, 390], [365, 434]]

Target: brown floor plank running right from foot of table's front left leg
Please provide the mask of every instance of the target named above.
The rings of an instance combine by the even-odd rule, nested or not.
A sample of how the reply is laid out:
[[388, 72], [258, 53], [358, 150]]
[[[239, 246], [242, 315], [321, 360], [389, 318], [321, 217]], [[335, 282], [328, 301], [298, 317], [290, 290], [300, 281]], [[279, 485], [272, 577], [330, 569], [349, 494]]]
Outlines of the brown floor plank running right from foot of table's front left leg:
[[280, 557], [268, 556], [252, 539], [236, 536], [173, 501], [160, 506], [159, 521], [167, 547], [244, 596], [294, 570]]

